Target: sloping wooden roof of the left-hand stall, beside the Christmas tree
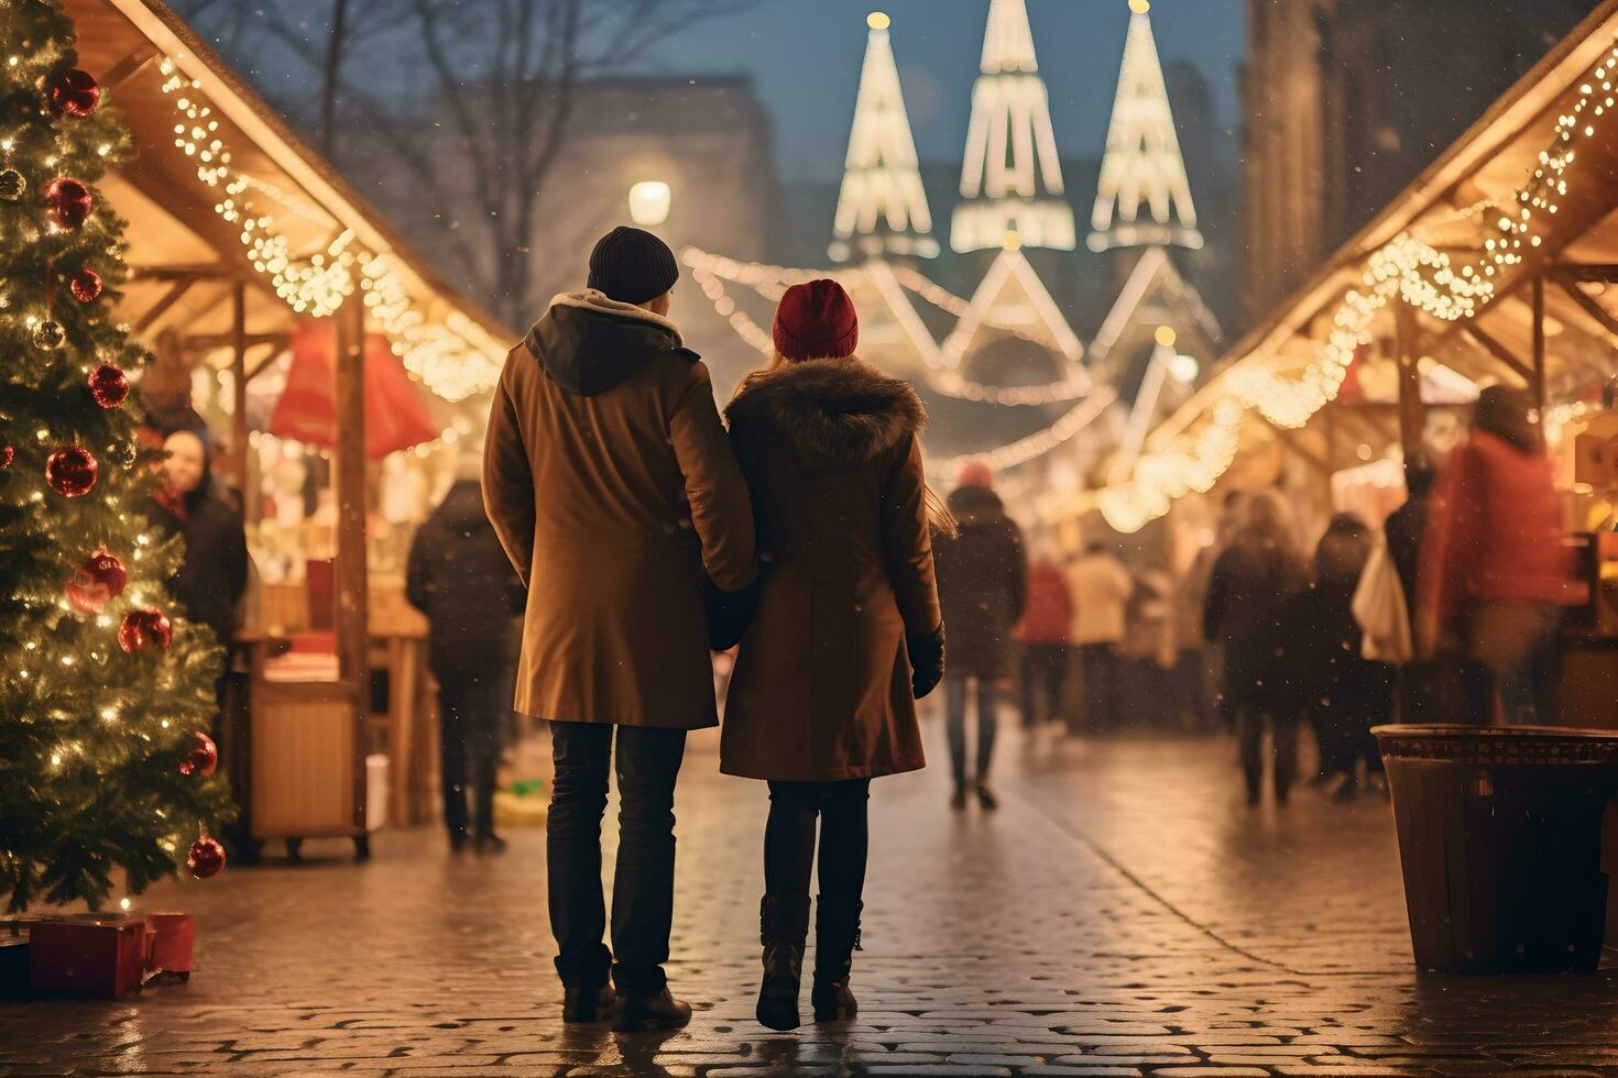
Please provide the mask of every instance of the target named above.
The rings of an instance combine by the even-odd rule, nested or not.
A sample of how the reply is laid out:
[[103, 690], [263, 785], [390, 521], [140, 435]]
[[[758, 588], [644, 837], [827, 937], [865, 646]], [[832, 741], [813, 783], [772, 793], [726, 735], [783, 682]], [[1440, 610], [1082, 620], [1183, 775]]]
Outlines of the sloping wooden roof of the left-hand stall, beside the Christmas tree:
[[[142, 339], [170, 326], [193, 341], [223, 338], [236, 281], [248, 286], [251, 339], [267, 343], [301, 317], [277, 294], [270, 273], [254, 267], [243, 225], [217, 210], [230, 197], [225, 183], [235, 179], [244, 183], [238, 204], [251, 204], [246, 217], [267, 218], [294, 265], [307, 267], [316, 255], [332, 260], [333, 244], [364, 255], [366, 265], [351, 267], [351, 299], [362, 294], [362, 280], [385, 275], [390, 297], [401, 302], [383, 312], [382, 289], [366, 294], [367, 305], [377, 304], [372, 326], [388, 331], [413, 377], [448, 399], [490, 385], [511, 330], [429, 268], [178, 15], [159, 0], [65, 6], [78, 27], [79, 65], [108, 92], [136, 145], [136, 157], [100, 186], [129, 221], [134, 276], [120, 315]], [[209, 113], [193, 116], [188, 108]], [[199, 176], [199, 152], [214, 139], [230, 154], [230, 175], [210, 186]], [[188, 141], [196, 144], [191, 152], [181, 145]]]

